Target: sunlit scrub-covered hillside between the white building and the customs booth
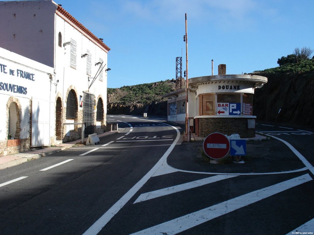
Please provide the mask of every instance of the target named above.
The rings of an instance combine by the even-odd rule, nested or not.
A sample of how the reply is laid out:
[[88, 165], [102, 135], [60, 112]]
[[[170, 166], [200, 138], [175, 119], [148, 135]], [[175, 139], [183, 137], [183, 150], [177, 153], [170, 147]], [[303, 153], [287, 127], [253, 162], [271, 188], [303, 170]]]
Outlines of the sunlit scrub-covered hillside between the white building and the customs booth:
[[167, 99], [162, 96], [174, 90], [174, 79], [107, 88], [107, 114], [166, 116]]

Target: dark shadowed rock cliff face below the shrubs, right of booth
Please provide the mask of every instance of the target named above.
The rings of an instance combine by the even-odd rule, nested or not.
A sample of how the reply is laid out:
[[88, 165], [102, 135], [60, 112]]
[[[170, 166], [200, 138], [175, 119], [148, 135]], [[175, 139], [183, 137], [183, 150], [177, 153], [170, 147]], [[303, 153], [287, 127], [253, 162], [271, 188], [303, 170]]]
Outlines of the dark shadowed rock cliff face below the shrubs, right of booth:
[[257, 120], [314, 127], [314, 73], [257, 75], [268, 78], [262, 88], [255, 90], [253, 115]]

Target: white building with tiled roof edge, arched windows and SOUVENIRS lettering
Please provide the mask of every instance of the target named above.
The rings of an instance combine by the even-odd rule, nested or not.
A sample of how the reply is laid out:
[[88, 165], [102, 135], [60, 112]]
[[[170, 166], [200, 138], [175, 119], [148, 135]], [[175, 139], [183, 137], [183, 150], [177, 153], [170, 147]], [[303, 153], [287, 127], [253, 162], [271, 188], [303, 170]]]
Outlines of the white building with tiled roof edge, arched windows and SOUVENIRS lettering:
[[[81, 138], [81, 125], [64, 123], [102, 133], [110, 50], [102, 39], [51, 0], [0, 2], [0, 22], [0, 155]], [[10, 134], [20, 142], [12, 151]]]

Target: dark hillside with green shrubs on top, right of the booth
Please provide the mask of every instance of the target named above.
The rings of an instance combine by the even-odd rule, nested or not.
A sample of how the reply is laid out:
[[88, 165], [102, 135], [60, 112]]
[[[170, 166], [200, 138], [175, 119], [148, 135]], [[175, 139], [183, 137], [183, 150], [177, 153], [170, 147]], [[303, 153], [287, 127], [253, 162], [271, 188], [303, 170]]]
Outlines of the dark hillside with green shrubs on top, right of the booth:
[[[309, 48], [295, 48], [278, 59], [278, 67], [253, 74], [268, 78], [256, 89], [253, 114], [258, 120], [314, 127], [314, 56]], [[310, 59], [311, 58], [311, 59]]]

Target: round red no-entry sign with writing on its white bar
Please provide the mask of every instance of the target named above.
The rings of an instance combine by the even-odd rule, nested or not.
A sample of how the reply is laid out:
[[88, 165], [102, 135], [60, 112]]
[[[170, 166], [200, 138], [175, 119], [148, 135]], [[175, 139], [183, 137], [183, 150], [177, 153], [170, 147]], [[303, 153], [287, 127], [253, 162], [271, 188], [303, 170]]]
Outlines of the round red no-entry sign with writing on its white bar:
[[224, 134], [215, 132], [205, 138], [203, 149], [208, 157], [221, 159], [229, 153], [230, 143]]

